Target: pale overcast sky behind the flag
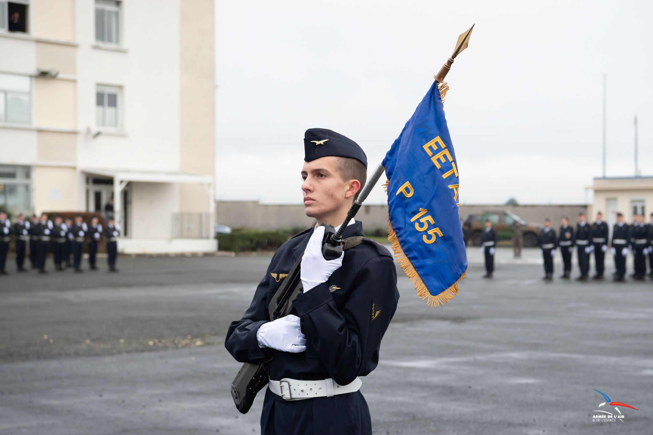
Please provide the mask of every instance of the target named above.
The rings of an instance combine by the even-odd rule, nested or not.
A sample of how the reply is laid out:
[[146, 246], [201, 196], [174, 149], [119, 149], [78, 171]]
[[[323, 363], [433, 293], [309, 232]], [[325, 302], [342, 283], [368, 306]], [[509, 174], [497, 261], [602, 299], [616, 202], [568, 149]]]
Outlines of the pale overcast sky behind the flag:
[[[460, 203], [584, 203], [601, 176], [653, 175], [651, 2], [215, 4], [216, 197], [301, 203], [304, 131], [381, 162], [473, 23], [447, 82]], [[591, 200], [591, 196], [590, 196]], [[386, 201], [375, 188], [369, 203]]]

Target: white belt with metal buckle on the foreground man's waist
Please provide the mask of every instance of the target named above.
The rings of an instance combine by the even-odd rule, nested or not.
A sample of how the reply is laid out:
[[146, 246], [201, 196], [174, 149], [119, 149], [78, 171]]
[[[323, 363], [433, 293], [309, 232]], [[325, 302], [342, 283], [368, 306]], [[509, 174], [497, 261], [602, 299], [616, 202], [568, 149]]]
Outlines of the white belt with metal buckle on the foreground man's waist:
[[281, 396], [285, 400], [304, 400], [313, 397], [332, 397], [338, 394], [354, 393], [362, 385], [360, 378], [347, 385], [338, 385], [331, 378], [320, 381], [301, 381], [297, 379], [283, 378], [280, 381], [268, 382], [268, 388], [272, 393]]

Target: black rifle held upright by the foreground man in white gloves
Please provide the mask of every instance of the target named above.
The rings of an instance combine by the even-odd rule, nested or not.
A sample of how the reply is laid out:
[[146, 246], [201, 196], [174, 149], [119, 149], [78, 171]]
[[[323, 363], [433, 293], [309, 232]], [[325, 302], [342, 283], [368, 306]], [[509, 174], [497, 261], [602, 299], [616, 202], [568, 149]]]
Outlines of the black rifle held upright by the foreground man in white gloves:
[[[347, 217], [338, 228], [334, 229], [332, 225], [322, 224], [325, 227], [325, 235], [322, 239], [322, 255], [325, 260], [335, 260], [342, 255], [343, 249], [351, 248], [358, 245], [362, 241], [362, 237], [350, 237], [343, 239], [342, 233], [347, 228], [347, 225], [353, 217], [358, 213], [358, 209], [366, 200], [372, 188], [379, 181], [381, 174], [385, 168], [379, 164], [372, 173], [372, 177], [358, 194], [358, 198], [351, 204], [351, 208], [347, 212]], [[357, 240], [350, 240], [357, 239]], [[270, 301], [270, 320], [277, 320], [283, 316], [287, 316], [293, 306], [293, 300], [302, 294], [304, 288], [302, 286], [301, 278], [301, 265], [304, 252], [300, 254], [299, 258], [288, 272], [288, 276], [283, 280], [281, 286]], [[273, 308], [274, 307], [274, 308]], [[270, 361], [272, 358], [261, 361], [260, 363], [244, 363], [236, 378], [231, 382], [231, 397], [234, 399], [236, 409], [241, 413], [246, 414], [254, 402], [257, 393], [263, 389], [270, 381]]]

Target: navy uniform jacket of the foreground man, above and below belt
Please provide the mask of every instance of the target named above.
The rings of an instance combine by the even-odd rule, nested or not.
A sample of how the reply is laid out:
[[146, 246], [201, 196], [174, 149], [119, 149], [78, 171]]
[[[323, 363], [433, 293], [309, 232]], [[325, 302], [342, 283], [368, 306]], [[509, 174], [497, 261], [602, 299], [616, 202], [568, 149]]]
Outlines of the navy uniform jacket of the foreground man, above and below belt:
[[[399, 299], [392, 254], [374, 241], [364, 239], [360, 245], [345, 250], [342, 266], [327, 282], [311, 288], [293, 301], [290, 314], [300, 318], [302, 332], [306, 334], [306, 352], [261, 348], [257, 340], [259, 327], [270, 321], [270, 299], [306, 248], [312, 233], [313, 228], [296, 235], [274, 254], [251, 305], [241, 320], [229, 326], [225, 348], [242, 363], [273, 357], [270, 380], [332, 378], [336, 383], [346, 385], [376, 368], [381, 338], [394, 316]], [[343, 237], [360, 235], [362, 222], [347, 226], [343, 232]], [[374, 314], [372, 304], [375, 311], [381, 312]], [[290, 406], [295, 417], [293, 421], [283, 422], [287, 428], [293, 428], [287, 433], [322, 433], [326, 422], [332, 422], [330, 429], [336, 430], [334, 433], [349, 433], [353, 430], [349, 429], [353, 424], [349, 415], [353, 409], [351, 400], [362, 402], [360, 406], [366, 409], [360, 391], [286, 402], [266, 388], [261, 426], [265, 428], [264, 433], [273, 433], [274, 430], [268, 430], [268, 425], [278, 427], [280, 422], [273, 421], [275, 416], [285, 419], [289, 415], [285, 412], [279, 414], [275, 407], [290, 412], [287, 408]], [[361, 409], [360, 406], [356, 408]], [[321, 427], [314, 427], [313, 422]], [[372, 430], [368, 428], [363, 432], [371, 433]]]

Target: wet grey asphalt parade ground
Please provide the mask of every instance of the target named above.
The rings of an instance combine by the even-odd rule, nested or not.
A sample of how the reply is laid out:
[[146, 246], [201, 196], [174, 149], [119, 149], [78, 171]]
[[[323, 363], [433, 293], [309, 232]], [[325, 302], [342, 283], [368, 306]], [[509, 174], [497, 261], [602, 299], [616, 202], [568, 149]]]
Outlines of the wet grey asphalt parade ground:
[[[544, 282], [537, 250], [501, 248], [487, 280], [477, 248], [468, 259], [444, 307], [400, 275], [362, 386], [375, 433], [653, 432], [653, 282]], [[236, 411], [223, 338], [269, 260], [120, 257], [118, 274], [0, 277], [0, 434], [259, 432], [263, 394]], [[617, 413], [592, 389], [639, 410], [592, 421]]]

